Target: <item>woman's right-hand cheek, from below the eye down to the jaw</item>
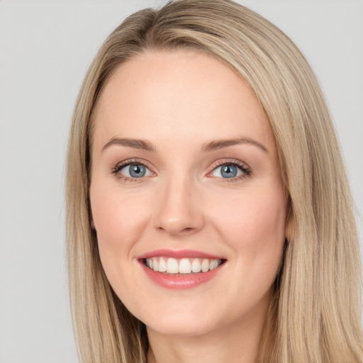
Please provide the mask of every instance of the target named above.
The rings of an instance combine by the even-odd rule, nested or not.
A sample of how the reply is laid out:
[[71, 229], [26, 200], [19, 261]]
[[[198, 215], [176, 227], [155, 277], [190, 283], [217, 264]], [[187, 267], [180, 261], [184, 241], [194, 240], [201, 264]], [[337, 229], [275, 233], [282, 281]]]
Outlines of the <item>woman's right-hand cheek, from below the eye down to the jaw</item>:
[[258, 306], [269, 296], [277, 277], [285, 241], [286, 205], [284, 193], [276, 190], [254, 193], [250, 189], [215, 215], [218, 233], [233, 251], [230, 266], [236, 278], [225, 289], [238, 296], [236, 311], [240, 306], [246, 311]]

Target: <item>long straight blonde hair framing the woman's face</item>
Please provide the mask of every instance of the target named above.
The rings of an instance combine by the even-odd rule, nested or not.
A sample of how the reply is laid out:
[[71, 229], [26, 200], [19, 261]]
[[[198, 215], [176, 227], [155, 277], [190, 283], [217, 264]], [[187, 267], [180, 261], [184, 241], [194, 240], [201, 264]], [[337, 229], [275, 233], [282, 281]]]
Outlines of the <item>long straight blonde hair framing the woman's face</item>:
[[67, 155], [67, 251], [83, 363], [146, 360], [145, 326], [113, 293], [89, 208], [92, 110], [125, 60], [191, 49], [250, 84], [271, 123], [289, 196], [288, 236], [259, 362], [362, 362], [361, 274], [352, 199], [328, 109], [301, 52], [276, 26], [229, 0], [177, 0], [123, 21], [79, 92]]

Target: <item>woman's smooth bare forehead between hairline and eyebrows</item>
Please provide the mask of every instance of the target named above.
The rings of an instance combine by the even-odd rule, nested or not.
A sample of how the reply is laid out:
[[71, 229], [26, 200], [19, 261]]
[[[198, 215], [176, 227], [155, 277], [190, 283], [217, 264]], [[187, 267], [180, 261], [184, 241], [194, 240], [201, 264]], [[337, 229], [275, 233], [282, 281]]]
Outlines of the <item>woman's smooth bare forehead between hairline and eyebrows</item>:
[[215, 57], [191, 51], [146, 52], [123, 63], [104, 86], [94, 123], [95, 144], [120, 136], [176, 145], [191, 136], [199, 143], [221, 137], [274, 143], [247, 82]]

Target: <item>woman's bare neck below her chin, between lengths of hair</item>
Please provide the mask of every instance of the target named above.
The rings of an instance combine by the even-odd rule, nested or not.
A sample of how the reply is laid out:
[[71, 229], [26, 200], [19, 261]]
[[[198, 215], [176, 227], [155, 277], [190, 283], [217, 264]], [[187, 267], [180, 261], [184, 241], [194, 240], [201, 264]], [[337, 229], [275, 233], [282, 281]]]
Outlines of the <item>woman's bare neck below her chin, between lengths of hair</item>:
[[268, 308], [203, 335], [169, 336], [147, 328], [147, 363], [255, 363]]

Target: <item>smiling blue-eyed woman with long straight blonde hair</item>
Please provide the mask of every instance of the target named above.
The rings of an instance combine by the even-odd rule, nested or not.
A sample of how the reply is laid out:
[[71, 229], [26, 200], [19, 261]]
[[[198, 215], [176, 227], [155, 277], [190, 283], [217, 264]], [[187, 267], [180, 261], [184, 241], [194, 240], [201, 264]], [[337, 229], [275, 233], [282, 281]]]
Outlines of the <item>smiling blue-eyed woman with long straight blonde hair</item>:
[[325, 101], [232, 1], [140, 11], [106, 40], [74, 111], [67, 228], [82, 362], [362, 362]]

